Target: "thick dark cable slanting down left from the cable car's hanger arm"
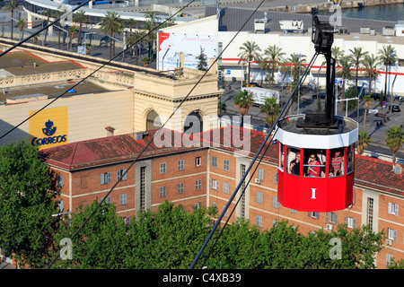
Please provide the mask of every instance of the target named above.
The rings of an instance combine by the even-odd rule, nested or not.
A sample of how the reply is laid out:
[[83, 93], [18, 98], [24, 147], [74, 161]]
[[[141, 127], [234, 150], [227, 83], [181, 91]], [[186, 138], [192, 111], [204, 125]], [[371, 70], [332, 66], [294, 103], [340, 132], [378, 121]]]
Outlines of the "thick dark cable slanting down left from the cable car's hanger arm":
[[[248, 167], [248, 169], [245, 170], [244, 176], [242, 177], [242, 179], [240, 180], [239, 184], [238, 184], [237, 187], [235, 188], [235, 190], [234, 190], [234, 192], [233, 192], [233, 195], [230, 197], [229, 201], [228, 201], [227, 204], [225, 205], [223, 212], [220, 214], [219, 218], [216, 220], [213, 229], [210, 231], [210, 233], [209, 233], [209, 235], [207, 236], [207, 238], [206, 238], [204, 244], [203, 244], [202, 247], [199, 249], [198, 255], [197, 255], [197, 257], [195, 257], [194, 261], [192, 262], [192, 265], [189, 266], [189, 269], [193, 269], [194, 266], [197, 264], [198, 259], [199, 259], [199, 257], [202, 255], [202, 252], [204, 251], [204, 249], [206, 248], [207, 243], [210, 241], [210, 239], [212, 238], [213, 234], [215, 233], [215, 230], [216, 230], [217, 226], [218, 226], [218, 225], [220, 224], [220, 222], [222, 221], [222, 219], [223, 219], [223, 217], [224, 217], [224, 214], [226, 213], [226, 211], [227, 211], [227, 209], [229, 208], [230, 204], [233, 202], [233, 199], [234, 199], [234, 197], [236, 196], [236, 194], [237, 194], [238, 190], [240, 189], [240, 187], [242, 186], [242, 183], [245, 181], [245, 178], [247, 178], [247, 175], [249, 174], [252, 165], [255, 163], [255, 161], [257, 161], [257, 158], [259, 157], [259, 153], [263, 150], [265, 144], [268, 142], [267, 148], [266, 148], [266, 150], [265, 150], [265, 152], [267, 152], [268, 146], [269, 146], [269, 143], [270, 143], [269, 137], [271, 136], [271, 134], [272, 134], [272, 132], [273, 132], [273, 130], [274, 130], [274, 127], [277, 126], [277, 123], [278, 123], [279, 119], [281, 118], [282, 114], [284, 114], [285, 110], [287, 110], [287, 109], [290, 108], [290, 102], [291, 102], [291, 100], [294, 98], [294, 92], [295, 92], [296, 89], [300, 86], [300, 84], [303, 82], [303, 81], [302, 81], [303, 77], [305, 78], [305, 77], [307, 76], [308, 71], [310, 70], [310, 67], [312, 66], [312, 63], [315, 61], [315, 59], [317, 58], [318, 55], [319, 55], [319, 54], [316, 52], [316, 53], [313, 55], [312, 60], [310, 61], [310, 64], [307, 65], [307, 67], [305, 68], [305, 70], [304, 70], [304, 72], [303, 72], [303, 75], [302, 75], [301, 78], [299, 79], [299, 82], [298, 82], [298, 83], [296, 84], [296, 86], [294, 87], [294, 91], [292, 91], [292, 94], [291, 94], [291, 96], [289, 97], [289, 99], [286, 101], [286, 103], [285, 103], [285, 105], [284, 105], [284, 108], [283, 108], [283, 109], [281, 110], [281, 112], [279, 113], [279, 116], [277, 117], [277, 120], [275, 121], [275, 124], [271, 127], [270, 131], [268, 132], [268, 135], [265, 137], [265, 140], [261, 143], [261, 145], [260, 145], [260, 147], [259, 147], [259, 151], [255, 154], [255, 156], [254, 156], [254, 158], [252, 159], [252, 161], [251, 161], [250, 166]], [[286, 109], [287, 106], [289, 106], [289, 108]], [[262, 161], [262, 158], [263, 158], [265, 152], [262, 154], [261, 159], [259, 160], [259, 162]], [[258, 166], [259, 166], [259, 164], [256, 166], [255, 170], [257, 170]], [[255, 170], [254, 170], [253, 172], [255, 172]], [[253, 174], [252, 174], [252, 175], [253, 175]], [[250, 178], [252, 178], [252, 177], [250, 177]], [[249, 178], [249, 180], [248, 180], [248, 182], [247, 182], [246, 187], [248, 187], [248, 184], [250, 183], [250, 178]], [[245, 190], [245, 187], [244, 187], [244, 190]], [[244, 192], [244, 190], [243, 190], [242, 192]], [[240, 198], [242, 198], [242, 196], [239, 197], [239, 200], [237, 201], [237, 203], [240, 202]], [[236, 206], [233, 207], [232, 213], [234, 212], [235, 207], [236, 207]], [[226, 221], [226, 224], [227, 224], [227, 222], [229, 221], [230, 217], [231, 217], [231, 216], [228, 217], [228, 219], [227, 219], [227, 221]], [[224, 225], [224, 227], [225, 227], [225, 225]], [[224, 230], [224, 228], [221, 230], [221, 232], [220, 232], [219, 235], [222, 234], [223, 230]], [[216, 239], [215, 243], [217, 242], [217, 240], [218, 240], [219, 238], [220, 238], [220, 236]], [[215, 247], [215, 245], [214, 245], [214, 247]], [[211, 251], [209, 252], [208, 255], [211, 254], [212, 250], [213, 250], [213, 248], [211, 249]], [[207, 258], [206, 258], [206, 260], [207, 260]], [[206, 261], [205, 261], [205, 263], [206, 263]]]

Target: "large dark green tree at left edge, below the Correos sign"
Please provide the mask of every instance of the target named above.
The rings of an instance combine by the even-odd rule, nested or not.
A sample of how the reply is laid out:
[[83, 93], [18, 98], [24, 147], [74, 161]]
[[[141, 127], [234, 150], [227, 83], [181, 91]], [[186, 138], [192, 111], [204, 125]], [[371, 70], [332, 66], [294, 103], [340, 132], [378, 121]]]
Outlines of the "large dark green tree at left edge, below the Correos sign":
[[0, 167], [0, 246], [21, 268], [38, 268], [53, 246], [53, 175], [25, 141], [0, 147]]

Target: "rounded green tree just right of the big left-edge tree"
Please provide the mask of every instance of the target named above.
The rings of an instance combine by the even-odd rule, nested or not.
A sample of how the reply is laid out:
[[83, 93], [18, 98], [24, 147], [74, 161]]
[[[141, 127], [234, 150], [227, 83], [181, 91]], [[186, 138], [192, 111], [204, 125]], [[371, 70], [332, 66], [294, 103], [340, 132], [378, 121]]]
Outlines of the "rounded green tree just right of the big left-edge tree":
[[[71, 219], [66, 217], [62, 222], [64, 224], [59, 228], [56, 241], [59, 243], [64, 238], [72, 240], [72, 259], [57, 258], [52, 268], [125, 268], [126, 252], [130, 248], [127, 245], [127, 226], [117, 215], [115, 205], [104, 203], [96, 210], [97, 204], [94, 201], [78, 206]], [[71, 238], [79, 229], [75, 238]]]

